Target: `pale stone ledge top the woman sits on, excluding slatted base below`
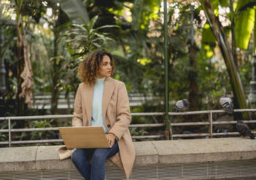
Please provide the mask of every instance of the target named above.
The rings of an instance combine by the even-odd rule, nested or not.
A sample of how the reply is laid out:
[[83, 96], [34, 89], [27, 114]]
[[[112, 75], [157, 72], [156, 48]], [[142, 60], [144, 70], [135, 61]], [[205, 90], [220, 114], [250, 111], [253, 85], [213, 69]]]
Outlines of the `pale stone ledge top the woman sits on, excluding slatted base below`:
[[[136, 165], [255, 160], [256, 140], [243, 138], [134, 142]], [[59, 160], [61, 146], [0, 148], [0, 171], [74, 168]], [[112, 166], [110, 160], [106, 166]]]

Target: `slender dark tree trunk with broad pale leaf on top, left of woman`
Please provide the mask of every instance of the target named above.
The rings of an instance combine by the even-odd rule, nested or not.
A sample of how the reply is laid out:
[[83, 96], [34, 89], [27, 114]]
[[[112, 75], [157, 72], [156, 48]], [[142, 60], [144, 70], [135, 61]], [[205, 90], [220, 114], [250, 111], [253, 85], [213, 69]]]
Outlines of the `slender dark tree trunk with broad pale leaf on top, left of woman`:
[[[59, 38], [61, 37], [61, 32], [67, 28], [67, 23], [69, 20], [72, 23], [82, 24], [89, 22], [88, 12], [82, 0], [72, 1], [64, 0], [60, 1], [61, 7], [58, 7], [56, 3], [48, 1], [48, 4], [53, 8], [53, 17], [55, 21], [52, 22], [53, 25], [53, 58], [52, 62], [52, 84], [51, 84], [51, 113], [55, 114], [58, 110], [58, 97], [60, 95], [60, 80], [61, 80], [61, 60], [58, 57], [60, 52], [59, 48]], [[68, 18], [69, 17], [69, 20]]]

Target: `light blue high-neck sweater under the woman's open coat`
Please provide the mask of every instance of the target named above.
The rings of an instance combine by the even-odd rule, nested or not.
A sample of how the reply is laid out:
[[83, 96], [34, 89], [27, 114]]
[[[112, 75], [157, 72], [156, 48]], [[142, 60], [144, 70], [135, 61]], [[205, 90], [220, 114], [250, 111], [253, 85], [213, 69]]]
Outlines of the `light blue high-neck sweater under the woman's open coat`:
[[105, 133], [108, 133], [104, 125], [102, 115], [102, 96], [104, 91], [105, 78], [97, 78], [93, 88], [93, 112], [90, 126], [102, 126]]

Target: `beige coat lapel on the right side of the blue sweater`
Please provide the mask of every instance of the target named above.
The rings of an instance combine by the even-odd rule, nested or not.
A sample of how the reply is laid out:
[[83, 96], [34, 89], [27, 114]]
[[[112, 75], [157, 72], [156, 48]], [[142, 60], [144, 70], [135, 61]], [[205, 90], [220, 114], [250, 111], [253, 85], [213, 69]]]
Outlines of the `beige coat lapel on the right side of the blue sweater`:
[[103, 97], [102, 97], [102, 115], [104, 120], [106, 117], [106, 108], [109, 105], [109, 101], [112, 97], [114, 89], [115, 89], [115, 86], [113, 84], [112, 78], [106, 78], [105, 84], [104, 84]]

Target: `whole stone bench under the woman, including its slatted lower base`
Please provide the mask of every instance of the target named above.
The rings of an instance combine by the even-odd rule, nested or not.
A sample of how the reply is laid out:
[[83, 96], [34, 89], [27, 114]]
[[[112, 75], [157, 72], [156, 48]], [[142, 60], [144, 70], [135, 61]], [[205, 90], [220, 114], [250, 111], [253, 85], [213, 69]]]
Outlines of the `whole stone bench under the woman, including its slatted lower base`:
[[[256, 140], [184, 139], [134, 145], [131, 179], [256, 179]], [[70, 158], [59, 160], [59, 147], [0, 148], [0, 179], [82, 179]], [[125, 179], [125, 174], [107, 160], [106, 179]]]

